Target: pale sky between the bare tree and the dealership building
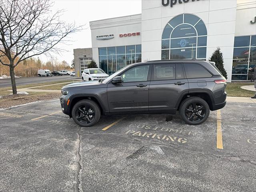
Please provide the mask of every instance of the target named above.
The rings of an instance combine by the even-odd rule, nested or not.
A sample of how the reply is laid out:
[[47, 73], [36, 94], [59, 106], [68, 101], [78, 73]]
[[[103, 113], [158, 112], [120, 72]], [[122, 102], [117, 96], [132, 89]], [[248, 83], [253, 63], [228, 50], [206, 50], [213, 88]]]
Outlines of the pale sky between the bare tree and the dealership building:
[[[65, 12], [61, 20], [68, 23], [75, 22], [78, 26], [83, 25], [84, 30], [71, 34], [69, 45], [62, 45], [67, 50], [59, 54], [53, 54], [53, 58], [59, 61], [65, 60], [68, 64], [74, 59], [73, 49], [92, 47], [90, 21], [106, 18], [120, 17], [141, 13], [141, 0], [54, 0], [52, 11], [62, 10]], [[51, 60], [49, 56], [40, 55], [43, 62]]]

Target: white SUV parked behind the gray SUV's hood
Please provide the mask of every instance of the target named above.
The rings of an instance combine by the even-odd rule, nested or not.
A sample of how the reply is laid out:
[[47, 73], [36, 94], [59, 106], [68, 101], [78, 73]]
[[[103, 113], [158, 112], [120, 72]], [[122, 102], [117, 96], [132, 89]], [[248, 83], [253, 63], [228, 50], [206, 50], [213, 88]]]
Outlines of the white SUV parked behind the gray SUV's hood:
[[93, 81], [106, 79], [109, 75], [106, 74], [102, 69], [99, 68], [90, 68], [85, 69], [82, 73], [82, 81]]

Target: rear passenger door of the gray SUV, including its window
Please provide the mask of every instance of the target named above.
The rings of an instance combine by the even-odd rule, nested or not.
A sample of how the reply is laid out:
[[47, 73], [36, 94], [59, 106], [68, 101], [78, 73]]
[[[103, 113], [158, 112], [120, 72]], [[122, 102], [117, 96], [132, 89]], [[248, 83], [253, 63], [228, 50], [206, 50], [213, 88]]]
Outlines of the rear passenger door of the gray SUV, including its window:
[[154, 64], [149, 88], [149, 112], [176, 112], [179, 99], [188, 92], [182, 63]]

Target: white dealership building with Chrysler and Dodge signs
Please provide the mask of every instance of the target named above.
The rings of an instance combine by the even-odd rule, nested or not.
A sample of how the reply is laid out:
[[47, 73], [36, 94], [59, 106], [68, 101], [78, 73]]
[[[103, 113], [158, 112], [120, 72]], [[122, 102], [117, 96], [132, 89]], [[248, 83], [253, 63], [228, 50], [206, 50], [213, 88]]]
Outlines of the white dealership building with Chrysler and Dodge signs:
[[92, 58], [108, 74], [149, 60], [208, 60], [218, 47], [228, 82], [249, 80], [256, 64], [256, 0], [142, 0], [141, 14], [90, 28]]

